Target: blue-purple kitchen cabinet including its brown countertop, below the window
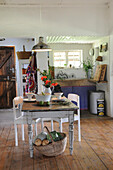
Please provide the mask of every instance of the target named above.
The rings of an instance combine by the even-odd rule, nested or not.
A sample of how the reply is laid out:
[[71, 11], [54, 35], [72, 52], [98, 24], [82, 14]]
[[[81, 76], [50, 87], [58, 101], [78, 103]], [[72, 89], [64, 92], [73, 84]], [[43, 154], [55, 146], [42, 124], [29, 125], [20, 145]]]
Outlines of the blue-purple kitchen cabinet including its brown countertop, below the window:
[[89, 91], [96, 91], [96, 84], [89, 82], [88, 79], [66, 79], [56, 80], [61, 86], [64, 95], [67, 97], [69, 93], [76, 93], [80, 96], [80, 108], [88, 109]]

